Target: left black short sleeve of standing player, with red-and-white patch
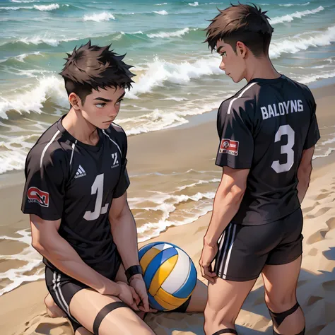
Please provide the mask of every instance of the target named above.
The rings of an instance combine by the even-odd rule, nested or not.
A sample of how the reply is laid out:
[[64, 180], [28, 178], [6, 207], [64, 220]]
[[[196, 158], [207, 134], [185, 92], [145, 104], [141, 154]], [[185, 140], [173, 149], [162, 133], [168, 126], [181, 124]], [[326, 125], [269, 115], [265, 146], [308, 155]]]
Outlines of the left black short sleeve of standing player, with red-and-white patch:
[[224, 101], [218, 110], [218, 136], [220, 143], [216, 155], [216, 165], [234, 169], [248, 169], [254, 155], [252, 103], [240, 98]]

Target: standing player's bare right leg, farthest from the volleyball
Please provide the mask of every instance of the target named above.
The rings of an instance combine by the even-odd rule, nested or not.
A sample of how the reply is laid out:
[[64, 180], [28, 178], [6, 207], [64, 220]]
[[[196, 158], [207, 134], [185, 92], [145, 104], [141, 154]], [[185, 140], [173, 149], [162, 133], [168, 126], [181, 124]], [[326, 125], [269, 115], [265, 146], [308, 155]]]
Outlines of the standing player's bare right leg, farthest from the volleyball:
[[[296, 303], [296, 288], [301, 266], [300, 256], [295, 261], [283, 265], [266, 265], [262, 271], [265, 302], [269, 310], [275, 313], [286, 312]], [[288, 315], [283, 323], [274, 330], [278, 334], [298, 334], [305, 327], [305, 317], [301, 308]]]

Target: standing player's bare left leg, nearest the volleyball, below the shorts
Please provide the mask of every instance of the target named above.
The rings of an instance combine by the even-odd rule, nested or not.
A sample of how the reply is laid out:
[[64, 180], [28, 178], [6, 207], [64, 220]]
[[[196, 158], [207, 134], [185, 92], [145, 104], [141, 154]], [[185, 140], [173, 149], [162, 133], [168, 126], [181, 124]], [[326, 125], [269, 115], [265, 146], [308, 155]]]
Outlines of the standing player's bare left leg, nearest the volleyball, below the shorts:
[[235, 329], [235, 320], [255, 281], [227, 281], [216, 277], [214, 283], [208, 283], [208, 302], [204, 312], [206, 335], [221, 329]]

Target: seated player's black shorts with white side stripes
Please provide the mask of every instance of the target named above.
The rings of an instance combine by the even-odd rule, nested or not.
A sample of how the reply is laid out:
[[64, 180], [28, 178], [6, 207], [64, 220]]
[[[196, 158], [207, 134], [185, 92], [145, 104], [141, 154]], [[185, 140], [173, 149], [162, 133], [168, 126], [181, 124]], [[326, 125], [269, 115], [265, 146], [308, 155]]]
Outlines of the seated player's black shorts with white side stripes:
[[[119, 257], [115, 257], [113, 266], [114, 271], [112, 276], [109, 277], [111, 281], [115, 280], [120, 264], [121, 259]], [[74, 278], [66, 276], [66, 274], [61, 271], [51, 269], [49, 266], [45, 266], [45, 282], [47, 284], [47, 290], [54, 299], [54, 302], [66, 313], [69, 318], [69, 321], [74, 328], [74, 332], [76, 332], [76, 329], [79, 327], [83, 327], [78, 320], [71, 315], [69, 306], [74, 295], [79, 290], [89, 288], [89, 286], [81, 283], [80, 281], [76, 281]]]

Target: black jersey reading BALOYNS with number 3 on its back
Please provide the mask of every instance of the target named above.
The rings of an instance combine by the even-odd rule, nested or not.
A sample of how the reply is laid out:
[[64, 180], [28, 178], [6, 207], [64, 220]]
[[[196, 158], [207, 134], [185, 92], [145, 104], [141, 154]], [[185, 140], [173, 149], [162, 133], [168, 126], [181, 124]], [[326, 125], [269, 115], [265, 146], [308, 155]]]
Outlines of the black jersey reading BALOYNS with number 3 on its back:
[[300, 207], [302, 151], [320, 138], [310, 89], [286, 76], [255, 78], [218, 110], [216, 165], [250, 169], [234, 223], [261, 225]]

